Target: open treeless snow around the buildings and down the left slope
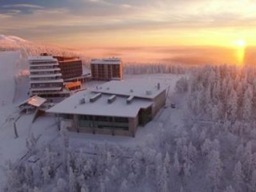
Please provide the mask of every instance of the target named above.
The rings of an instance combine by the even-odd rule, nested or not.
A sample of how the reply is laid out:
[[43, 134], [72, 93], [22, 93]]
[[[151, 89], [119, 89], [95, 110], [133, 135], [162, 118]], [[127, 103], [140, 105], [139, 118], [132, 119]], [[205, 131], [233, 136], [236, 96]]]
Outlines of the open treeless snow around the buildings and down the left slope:
[[[13, 122], [17, 113], [17, 104], [28, 98], [28, 77], [22, 73], [26, 70], [22, 55], [19, 51], [0, 52], [0, 191], [5, 183], [6, 162], [8, 160], [23, 161], [28, 158], [28, 148], [26, 140], [35, 137], [38, 148], [59, 145], [60, 132], [57, 129], [56, 119], [52, 116], [42, 116], [35, 123], [32, 122], [33, 115], [22, 115], [17, 120], [17, 132], [19, 138], [15, 139]], [[74, 150], [90, 143], [113, 143], [114, 145], [124, 145], [125, 147], [136, 148], [143, 145], [145, 141], [154, 136], [159, 124], [165, 126], [172, 122], [179, 126], [182, 122], [182, 110], [179, 109], [180, 97], [175, 97], [174, 87], [180, 75], [174, 74], [150, 74], [150, 75], [126, 75], [124, 79], [147, 80], [153, 79], [162, 81], [170, 86], [169, 96], [177, 103], [177, 109], [163, 108], [152, 122], [145, 127], [140, 127], [135, 138], [121, 136], [106, 136], [100, 134], [85, 134], [68, 132], [70, 147]], [[86, 87], [93, 88], [102, 82], [89, 82]]]

